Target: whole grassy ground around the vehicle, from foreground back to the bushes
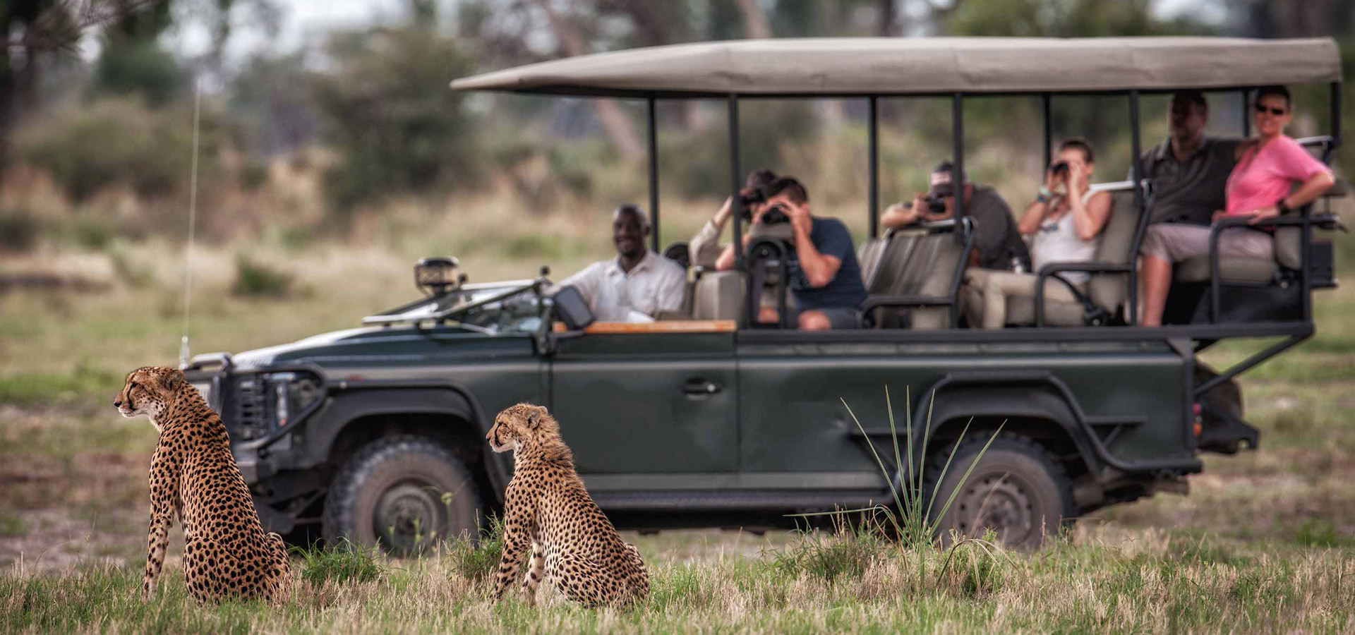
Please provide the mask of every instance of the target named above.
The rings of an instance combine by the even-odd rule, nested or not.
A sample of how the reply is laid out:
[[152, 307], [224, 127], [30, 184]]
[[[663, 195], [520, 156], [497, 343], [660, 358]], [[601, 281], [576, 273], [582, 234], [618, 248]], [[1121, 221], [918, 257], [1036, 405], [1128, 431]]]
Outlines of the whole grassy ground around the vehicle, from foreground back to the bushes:
[[[558, 276], [607, 250], [604, 222], [518, 221], [528, 238], [503, 238], [503, 219], [485, 217], [436, 232], [392, 222], [359, 246], [199, 248], [194, 351], [352, 326], [413, 297], [417, 255], [455, 253], [489, 280], [531, 276], [538, 264]], [[699, 214], [668, 222], [680, 234]], [[539, 244], [553, 245], [542, 263], [531, 256]], [[248, 288], [241, 253], [267, 273]], [[286, 608], [202, 608], [184, 596], [175, 535], [164, 596], [146, 604], [136, 592], [154, 432], [108, 401], [127, 370], [175, 362], [182, 257], [117, 241], [96, 253], [0, 257], [0, 632], [1355, 632], [1350, 290], [1317, 294], [1318, 336], [1243, 379], [1260, 451], [1209, 456], [1188, 497], [1099, 512], [1037, 554], [683, 531], [627, 536], [654, 582], [630, 612], [493, 605], [453, 548], [379, 561], [367, 581], [322, 581], [321, 565], [297, 559]], [[1207, 357], [1222, 364], [1263, 344], [1225, 343]]]

